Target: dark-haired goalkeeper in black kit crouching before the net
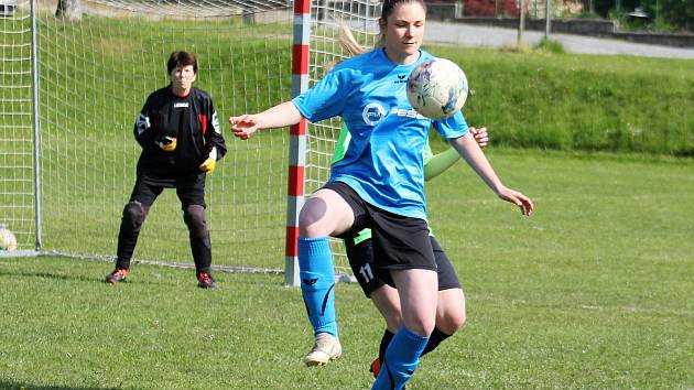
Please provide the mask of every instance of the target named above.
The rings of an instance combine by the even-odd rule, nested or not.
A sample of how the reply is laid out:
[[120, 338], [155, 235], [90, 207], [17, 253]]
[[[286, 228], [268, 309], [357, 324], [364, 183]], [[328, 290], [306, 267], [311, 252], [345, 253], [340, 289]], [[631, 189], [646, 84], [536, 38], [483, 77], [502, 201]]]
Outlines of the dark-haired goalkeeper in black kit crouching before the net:
[[171, 84], [148, 97], [134, 124], [134, 138], [142, 153], [120, 223], [116, 269], [106, 277], [106, 282], [126, 281], [150, 207], [164, 188], [176, 188], [183, 220], [188, 227], [197, 285], [215, 289], [205, 217], [205, 178], [227, 149], [209, 95], [193, 87], [197, 76], [195, 55], [172, 53], [166, 71]]

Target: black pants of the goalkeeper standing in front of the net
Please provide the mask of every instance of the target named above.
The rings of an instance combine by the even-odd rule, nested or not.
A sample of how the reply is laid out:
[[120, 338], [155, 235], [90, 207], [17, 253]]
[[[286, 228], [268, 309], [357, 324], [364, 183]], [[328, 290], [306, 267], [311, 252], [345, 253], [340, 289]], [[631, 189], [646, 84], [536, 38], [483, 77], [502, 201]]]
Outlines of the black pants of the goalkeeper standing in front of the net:
[[[130, 268], [130, 260], [138, 243], [140, 228], [147, 218], [150, 207], [164, 188], [162, 185], [148, 183], [138, 177], [132, 195], [130, 195], [130, 201], [123, 208], [120, 221], [116, 268]], [[196, 181], [191, 186], [176, 187], [176, 195], [181, 201], [183, 220], [188, 227], [195, 269], [198, 273], [209, 273], [212, 245], [205, 216], [205, 178]], [[165, 231], [161, 234], [165, 235]]]

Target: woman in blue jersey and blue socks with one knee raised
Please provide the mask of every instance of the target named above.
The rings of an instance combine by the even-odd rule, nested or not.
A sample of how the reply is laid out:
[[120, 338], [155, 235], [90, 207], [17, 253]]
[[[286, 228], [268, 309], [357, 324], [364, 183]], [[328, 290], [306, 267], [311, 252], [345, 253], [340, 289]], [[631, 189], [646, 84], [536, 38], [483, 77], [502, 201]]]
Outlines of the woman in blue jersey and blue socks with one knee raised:
[[[340, 116], [350, 129], [345, 158], [299, 216], [299, 266], [314, 351], [339, 356], [334, 313], [334, 270], [327, 236], [371, 228], [373, 254], [383, 277], [400, 294], [403, 325], [386, 351], [373, 389], [401, 389], [411, 378], [435, 325], [437, 279], [429, 238], [422, 151], [431, 124], [449, 139], [467, 163], [503, 201], [524, 215], [533, 205], [506, 187], [467, 130], [460, 112], [446, 120], [418, 115], [405, 94], [408, 75], [432, 55], [420, 50], [423, 0], [386, 0], [379, 20], [386, 45], [338, 64], [291, 101], [263, 112], [229, 118], [234, 134]], [[328, 340], [328, 342], [326, 342]], [[330, 349], [324, 349], [327, 345]], [[308, 358], [310, 356], [307, 356]]]

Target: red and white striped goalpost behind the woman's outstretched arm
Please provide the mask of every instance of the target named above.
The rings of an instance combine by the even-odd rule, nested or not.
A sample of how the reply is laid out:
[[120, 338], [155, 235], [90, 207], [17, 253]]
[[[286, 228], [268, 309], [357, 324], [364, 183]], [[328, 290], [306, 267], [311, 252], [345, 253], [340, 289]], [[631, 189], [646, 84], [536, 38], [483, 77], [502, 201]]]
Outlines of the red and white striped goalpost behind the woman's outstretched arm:
[[[292, 97], [308, 89], [308, 43], [311, 40], [311, 0], [294, 0], [294, 44], [292, 45]], [[290, 128], [290, 166], [286, 201], [286, 239], [284, 283], [297, 286], [299, 212], [304, 205], [306, 166], [306, 120]]]

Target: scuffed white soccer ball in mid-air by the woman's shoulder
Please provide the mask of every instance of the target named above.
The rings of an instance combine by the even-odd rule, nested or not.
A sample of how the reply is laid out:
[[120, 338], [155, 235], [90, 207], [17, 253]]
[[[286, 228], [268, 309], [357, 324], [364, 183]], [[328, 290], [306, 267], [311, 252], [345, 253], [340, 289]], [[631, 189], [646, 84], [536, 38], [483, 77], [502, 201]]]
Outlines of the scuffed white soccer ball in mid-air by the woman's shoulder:
[[467, 77], [458, 65], [446, 58], [421, 63], [408, 79], [408, 100], [421, 115], [446, 119], [463, 108], [467, 99]]

